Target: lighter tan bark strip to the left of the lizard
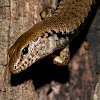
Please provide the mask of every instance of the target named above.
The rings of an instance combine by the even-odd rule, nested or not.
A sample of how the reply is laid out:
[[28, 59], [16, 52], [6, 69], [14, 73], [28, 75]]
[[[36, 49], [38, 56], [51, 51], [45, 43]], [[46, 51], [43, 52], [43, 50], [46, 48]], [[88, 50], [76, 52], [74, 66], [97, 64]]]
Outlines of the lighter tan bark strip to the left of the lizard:
[[38, 0], [0, 0], [0, 100], [37, 100], [32, 80], [12, 85], [7, 50], [23, 32], [40, 21], [41, 9]]

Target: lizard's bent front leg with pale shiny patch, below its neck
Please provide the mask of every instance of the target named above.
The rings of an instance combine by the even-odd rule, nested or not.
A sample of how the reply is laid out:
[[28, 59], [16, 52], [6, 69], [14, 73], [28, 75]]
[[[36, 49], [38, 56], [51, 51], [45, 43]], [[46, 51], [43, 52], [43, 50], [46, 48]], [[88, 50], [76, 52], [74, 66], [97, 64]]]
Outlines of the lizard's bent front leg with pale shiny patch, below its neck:
[[70, 51], [69, 45], [67, 45], [64, 49], [61, 50], [60, 56], [55, 56], [53, 59], [53, 63], [58, 66], [66, 66], [70, 60]]

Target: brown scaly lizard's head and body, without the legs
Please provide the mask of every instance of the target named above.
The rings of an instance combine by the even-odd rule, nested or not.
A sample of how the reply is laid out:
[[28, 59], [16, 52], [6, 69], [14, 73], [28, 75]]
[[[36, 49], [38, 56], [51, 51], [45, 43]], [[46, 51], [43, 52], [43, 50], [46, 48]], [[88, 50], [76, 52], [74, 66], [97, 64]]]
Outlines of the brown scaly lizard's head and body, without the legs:
[[[70, 41], [69, 35], [73, 38], [76, 34], [75, 30], [84, 23], [93, 2], [94, 0], [62, 0], [53, 16], [22, 34], [8, 51], [11, 72], [19, 73], [55, 50], [66, 48]], [[65, 50], [68, 51], [63, 49], [64, 52]]]

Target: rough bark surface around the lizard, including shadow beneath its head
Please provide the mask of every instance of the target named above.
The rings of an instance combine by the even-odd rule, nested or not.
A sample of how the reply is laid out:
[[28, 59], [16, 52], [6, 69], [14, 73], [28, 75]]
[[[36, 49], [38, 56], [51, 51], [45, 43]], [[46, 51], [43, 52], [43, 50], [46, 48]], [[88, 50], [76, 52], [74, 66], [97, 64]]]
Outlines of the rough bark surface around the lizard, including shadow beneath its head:
[[[50, 59], [45, 58], [17, 75], [9, 72], [8, 48], [41, 20], [40, 12], [45, 5], [55, 7], [54, 1], [0, 0], [0, 100], [93, 100], [98, 81], [95, 72], [100, 72], [100, 7], [89, 31], [83, 31], [88, 33], [87, 37], [80, 41], [79, 36], [71, 44], [68, 67], [48, 64]], [[99, 87], [100, 82], [94, 100], [100, 99]]]

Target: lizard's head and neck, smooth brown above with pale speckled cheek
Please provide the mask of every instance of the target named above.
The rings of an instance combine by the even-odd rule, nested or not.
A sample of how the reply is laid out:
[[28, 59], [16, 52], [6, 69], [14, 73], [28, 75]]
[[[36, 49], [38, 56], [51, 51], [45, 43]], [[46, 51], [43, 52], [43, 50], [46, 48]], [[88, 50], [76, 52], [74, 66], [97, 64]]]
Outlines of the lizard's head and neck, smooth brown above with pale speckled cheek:
[[9, 49], [9, 68], [12, 73], [24, 71], [39, 59], [53, 53], [57, 45], [59, 48], [63, 43], [55, 31], [47, 32], [42, 22], [22, 34]]

